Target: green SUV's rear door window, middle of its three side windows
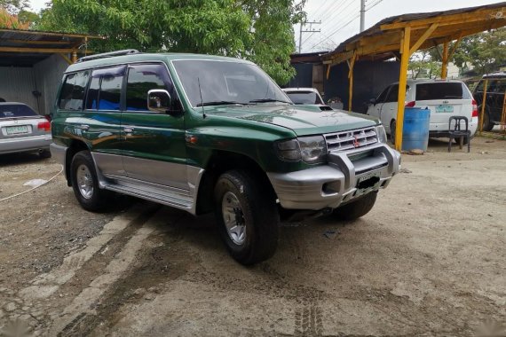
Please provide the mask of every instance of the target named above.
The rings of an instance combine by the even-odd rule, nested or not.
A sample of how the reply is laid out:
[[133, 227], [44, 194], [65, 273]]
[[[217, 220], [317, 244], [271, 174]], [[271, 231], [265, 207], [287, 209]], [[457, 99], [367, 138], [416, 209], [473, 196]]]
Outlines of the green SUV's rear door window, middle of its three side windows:
[[126, 66], [101, 68], [91, 74], [86, 109], [120, 110]]

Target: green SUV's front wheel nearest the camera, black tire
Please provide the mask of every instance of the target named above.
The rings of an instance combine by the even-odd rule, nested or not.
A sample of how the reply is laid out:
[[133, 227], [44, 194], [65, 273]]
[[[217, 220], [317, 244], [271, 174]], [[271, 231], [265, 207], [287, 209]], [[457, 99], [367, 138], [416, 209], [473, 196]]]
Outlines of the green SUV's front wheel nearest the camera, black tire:
[[[253, 175], [231, 170], [217, 179], [214, 190], [218, 230], [230, 255], [242, 264], [259, 263], [273, 256], [280, 238], [280, 216], [273, 193], [258, 184]], [[224, 216], [233, 219], [230, 225], [241, 228], [243, 237], [229, 234]], [[239, 205], [239, 207], [233, 206]], [[233, 216], [231, 209], [233, 208]], [[238, 225], [238, 223], [240, 225]], [[241, 225], [243, 223], [243, 225]], [[242, 239], [242, 242], [241, 242]]]

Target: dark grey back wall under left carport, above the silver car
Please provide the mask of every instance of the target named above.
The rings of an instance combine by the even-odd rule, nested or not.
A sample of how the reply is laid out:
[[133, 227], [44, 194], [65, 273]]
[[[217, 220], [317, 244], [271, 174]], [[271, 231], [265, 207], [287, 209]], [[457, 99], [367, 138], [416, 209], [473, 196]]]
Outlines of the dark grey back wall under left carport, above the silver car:
[[38, 111], [36, 78], [31, 67], [0, 67], [0, 98], [7, 102], [20, 102]]

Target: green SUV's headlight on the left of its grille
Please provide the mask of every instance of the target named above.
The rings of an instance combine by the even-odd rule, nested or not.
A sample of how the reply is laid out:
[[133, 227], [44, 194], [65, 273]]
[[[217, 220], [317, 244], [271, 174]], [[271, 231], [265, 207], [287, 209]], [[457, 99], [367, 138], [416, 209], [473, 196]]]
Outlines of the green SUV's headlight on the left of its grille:
[[281, 161], [304, 161], [316, 164], [327, 160], [327, 144], [323, 136], [284, 140], [275, 145]]

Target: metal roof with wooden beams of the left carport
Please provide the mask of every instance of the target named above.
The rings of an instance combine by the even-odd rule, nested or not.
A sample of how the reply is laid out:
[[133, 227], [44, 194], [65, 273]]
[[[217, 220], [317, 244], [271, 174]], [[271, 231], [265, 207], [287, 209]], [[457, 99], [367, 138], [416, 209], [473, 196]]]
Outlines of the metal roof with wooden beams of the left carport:
[[77, 54], [92, 53], [86, 48], [90, 39], [101, 38], [97, 35], [1, 28], [0, 67], [32, 67], [55, 53], [73, 63]]

